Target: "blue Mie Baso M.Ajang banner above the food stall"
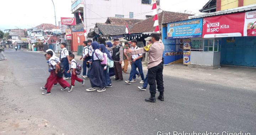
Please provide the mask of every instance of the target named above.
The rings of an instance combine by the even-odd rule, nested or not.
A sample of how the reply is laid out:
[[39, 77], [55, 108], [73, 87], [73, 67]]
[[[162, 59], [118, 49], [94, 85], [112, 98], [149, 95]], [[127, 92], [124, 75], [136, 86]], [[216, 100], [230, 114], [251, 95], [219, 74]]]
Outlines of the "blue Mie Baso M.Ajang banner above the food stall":
[[168, 23], [167, 39], [201, 37], [202, 25], [202, 18]]

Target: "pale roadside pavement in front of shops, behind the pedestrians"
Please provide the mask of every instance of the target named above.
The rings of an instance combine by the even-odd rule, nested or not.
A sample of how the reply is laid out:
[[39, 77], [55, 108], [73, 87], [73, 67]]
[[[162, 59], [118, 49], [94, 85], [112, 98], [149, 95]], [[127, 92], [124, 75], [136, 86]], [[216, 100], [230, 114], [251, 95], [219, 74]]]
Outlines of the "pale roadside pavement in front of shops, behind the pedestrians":
[[[44, 52], [34, 52], [43, 53]], [[59, 54], [56, 54], [59, 56]], [[81, 56], [75, 55], [75, 60]], [[124, 63], [122, 63], [122, 66]], [[128, 66], [130, 70], [130, 65]], [[147, 66], [143, 62], [143, 70], [147, 71]], [[146, 73], [145, 73], [146, 74]], [[178, 77], [181, 79], [190, 79], [194, 81], [203, 81], [217, 85], [230, 86], [235, 88], [256, 90], [256, 68], [240, 66], [222, 66], [220, 69], [198, 69], [183, 66], [183, 64], [171, 64], [164, 66], [164, 76]]]

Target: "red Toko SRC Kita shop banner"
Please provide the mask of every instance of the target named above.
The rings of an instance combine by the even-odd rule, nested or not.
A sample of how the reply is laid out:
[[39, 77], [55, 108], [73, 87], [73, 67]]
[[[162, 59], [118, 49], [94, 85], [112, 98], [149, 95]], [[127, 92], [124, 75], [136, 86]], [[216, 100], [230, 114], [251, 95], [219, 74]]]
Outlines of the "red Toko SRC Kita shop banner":
[[245, 13], [204, 18], [203, 38], [244, 36]]

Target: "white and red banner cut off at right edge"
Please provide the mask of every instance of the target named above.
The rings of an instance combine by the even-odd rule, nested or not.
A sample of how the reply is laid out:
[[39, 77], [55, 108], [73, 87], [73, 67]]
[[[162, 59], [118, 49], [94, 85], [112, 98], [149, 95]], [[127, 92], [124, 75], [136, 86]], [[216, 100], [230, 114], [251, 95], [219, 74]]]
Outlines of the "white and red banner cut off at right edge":
[[244, 36], [256, 36], [256, 11], [245, 12]]

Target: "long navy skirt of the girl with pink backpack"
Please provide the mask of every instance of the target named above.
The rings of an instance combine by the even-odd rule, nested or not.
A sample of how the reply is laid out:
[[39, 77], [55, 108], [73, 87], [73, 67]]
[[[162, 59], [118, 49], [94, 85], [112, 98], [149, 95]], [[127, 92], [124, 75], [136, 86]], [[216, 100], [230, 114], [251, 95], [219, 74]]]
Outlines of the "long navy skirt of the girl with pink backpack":
[[99, 60], [92, 62], [89, 79], [92, 87], [103, 87], [103, 68]]

